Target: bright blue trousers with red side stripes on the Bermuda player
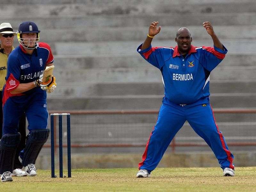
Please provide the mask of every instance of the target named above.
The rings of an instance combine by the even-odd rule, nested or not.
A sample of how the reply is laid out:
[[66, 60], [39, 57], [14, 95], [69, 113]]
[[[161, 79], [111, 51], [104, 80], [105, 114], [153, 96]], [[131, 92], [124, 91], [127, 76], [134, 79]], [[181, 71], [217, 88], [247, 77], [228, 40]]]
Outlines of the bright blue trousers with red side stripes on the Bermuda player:
[[150, 173], [156, 168], [173, 137], [186, 120], [212, 149], [221, 168], [234, 169], [232, 164], [234, 156], [215, 122], [208, 97], [190, 105], [179, 105], [167, 98], [163, 99], [156, 125], [150, 134], [142, 162], [139, 163], [139, 169], [146, 169]]

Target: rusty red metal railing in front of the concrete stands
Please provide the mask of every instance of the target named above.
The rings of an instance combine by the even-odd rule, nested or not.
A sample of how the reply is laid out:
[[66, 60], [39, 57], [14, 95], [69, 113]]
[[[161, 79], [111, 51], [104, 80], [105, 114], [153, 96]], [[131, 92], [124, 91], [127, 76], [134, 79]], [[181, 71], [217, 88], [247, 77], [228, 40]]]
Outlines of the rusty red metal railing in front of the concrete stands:
[[[157, 114], [158, 110], [50, 110], [50, 113], [70, 113], [71, 115], [116, 115], [116, 114]], [[214, 109], [214, 113], [237, 113], [237, 114], [250, 114], [255, 113], [256, 109], [245, 109], [245, 108], [217, 108]], [[54, 116], [54, 118], [56, 118]], [[54, 135], [56, 135], [56, 119], [54, 119]], [[71, 125], [72, 126], [72, 125]], [[55, 145], [54, 149], [58, 148], [58, 144], [56, 142], [56, 137], [54, 137]], [[227, 142], [228, 146], [256, 146], [256, 142]], [[133, 144], [133, 143], [96, 143], [96, 144], [71, 144], [72, 148], [97, 148], [97, 147], [145, 147], [145, 144]], [[207, 146], [206, 143], [195, 143], [195, 142], [179, 142], [175, 141], [175, 137], [169, 145], [172, 148], [172, 152], [175, 151], [176, 147], [204, 147]], [[44, 147], [51, 147], [50, 144], [45, 144]], [[63, 147], [67, 147], [66, 144], [63, 144]]]

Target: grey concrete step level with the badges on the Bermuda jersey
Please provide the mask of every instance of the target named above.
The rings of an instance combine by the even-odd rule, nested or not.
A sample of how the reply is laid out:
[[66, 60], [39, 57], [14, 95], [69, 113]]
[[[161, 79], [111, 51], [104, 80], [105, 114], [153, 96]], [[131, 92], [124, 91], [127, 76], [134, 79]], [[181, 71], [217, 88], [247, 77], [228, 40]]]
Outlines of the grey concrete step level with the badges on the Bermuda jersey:
[[[256, 54], [229, 53], [220, 64], [221, 66], [255, 66]], [[146, 62], [147, 63], [147, 62]], [[134, 55], [54, 55], [54, 65], [61, 69], [107, 69], [107, 68], [143, 68], [145, 60], [138, 54]], [[218, 66], [219, 68], [220, 66]]]

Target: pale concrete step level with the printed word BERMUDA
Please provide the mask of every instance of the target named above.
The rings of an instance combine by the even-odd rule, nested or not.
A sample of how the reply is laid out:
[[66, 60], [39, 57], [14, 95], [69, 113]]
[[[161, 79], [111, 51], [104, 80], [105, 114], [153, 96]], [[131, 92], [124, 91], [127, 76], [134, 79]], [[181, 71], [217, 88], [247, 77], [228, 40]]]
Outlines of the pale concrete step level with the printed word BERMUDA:
[[[116, 68], [116, 69], [60, 69], [55, 68], [53, 72], [56, 76], [56, 82], [59, 85], [75, 87], [84, 86], [84, 84], [96, 83], [131, 83], [131, 82], [162, 82], [160, 70], [149, 65], [146, 61], [141, 63], [147, 68]], [[210, 80], [236, 80], [252, 81], [255, 80], [256, 67], [222, 67], [215, 68]], [[68, 87], [67, 87], [68, 88]]]

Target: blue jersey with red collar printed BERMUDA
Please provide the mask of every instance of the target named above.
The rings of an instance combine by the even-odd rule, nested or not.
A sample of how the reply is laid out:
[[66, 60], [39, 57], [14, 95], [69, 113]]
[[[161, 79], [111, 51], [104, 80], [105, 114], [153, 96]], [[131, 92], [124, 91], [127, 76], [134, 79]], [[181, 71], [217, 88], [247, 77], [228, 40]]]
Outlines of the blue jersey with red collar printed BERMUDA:
[[[210, 72], [224, 59], [228, 50], [217, 47], [191, 48], [184, 58], [173, 47], [148, 47], [137, 51], [150, 64], [162, 72], [164, 83], [164, 100], [176, 104], [191, 104], [208, 97]], [[163, 100], [163, 102], [164, 102]]]

